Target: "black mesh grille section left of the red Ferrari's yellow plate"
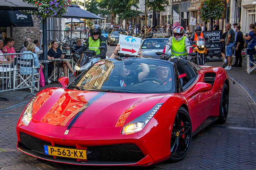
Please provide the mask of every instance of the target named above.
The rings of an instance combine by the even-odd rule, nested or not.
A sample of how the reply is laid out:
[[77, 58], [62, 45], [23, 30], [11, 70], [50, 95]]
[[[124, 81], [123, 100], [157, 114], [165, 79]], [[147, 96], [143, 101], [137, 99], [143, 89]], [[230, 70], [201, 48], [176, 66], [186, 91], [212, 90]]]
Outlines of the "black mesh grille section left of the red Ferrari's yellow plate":
[[24, 147], [27, 150], [44, 153], [44, 145], [51, 145], [51, 143], [49, 142], [37, 139], [23, 132], [21, 132], [19, 135], [22, 147]]

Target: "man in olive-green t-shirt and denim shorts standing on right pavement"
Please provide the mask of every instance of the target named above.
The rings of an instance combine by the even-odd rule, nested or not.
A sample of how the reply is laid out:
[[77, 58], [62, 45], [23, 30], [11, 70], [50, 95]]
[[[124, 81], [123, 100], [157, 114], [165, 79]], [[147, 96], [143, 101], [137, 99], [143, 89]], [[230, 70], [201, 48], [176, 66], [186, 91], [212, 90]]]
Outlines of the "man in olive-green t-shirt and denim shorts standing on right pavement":
[[[216, 22], [215, 22], [216, 23]], [[217, 26], [217, 25], [216, 25]], [[216, 28], [215, 26], [215, 28]], [[235, 33], [234, 30], [231, 29], [231, 23], [226, 23], [226, 29], [228, 30], [228, 34], [225, 38], [225, 44], [226, 44], [226, 57], [228, 59], [228, 65], [225, 67], [225, 70], [231, 70], [232, 69], [232, 48], [234, 46], [234, 37]]]

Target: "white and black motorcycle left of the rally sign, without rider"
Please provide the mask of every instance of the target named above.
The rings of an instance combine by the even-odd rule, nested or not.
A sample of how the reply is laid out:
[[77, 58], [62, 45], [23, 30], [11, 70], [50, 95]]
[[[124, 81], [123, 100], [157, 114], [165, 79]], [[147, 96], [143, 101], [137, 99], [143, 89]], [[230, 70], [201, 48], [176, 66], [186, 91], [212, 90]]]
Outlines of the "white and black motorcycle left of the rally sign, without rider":
[[[105, 48], [106, 48], [105, 46], [101, 46], [97, 51], [86, 50], [86, 51], [83, 51], [83, 54], [81, 56], [77, 54], [73, 54], [72, 57], [74, 58], [74, 60], [77, 61], [77, 63], [75, 64], [76, 76], [78, 76], [80, 73], [82, 73], [84, 70], [86, 70], [88, 67], [90, 67], [97, 61], [99, 61], [100, 60], [99, 54], [96, 55], [96, 53], [99, 50], [104, 50]], [[75, 50], [75, 52], [77, 51]]]

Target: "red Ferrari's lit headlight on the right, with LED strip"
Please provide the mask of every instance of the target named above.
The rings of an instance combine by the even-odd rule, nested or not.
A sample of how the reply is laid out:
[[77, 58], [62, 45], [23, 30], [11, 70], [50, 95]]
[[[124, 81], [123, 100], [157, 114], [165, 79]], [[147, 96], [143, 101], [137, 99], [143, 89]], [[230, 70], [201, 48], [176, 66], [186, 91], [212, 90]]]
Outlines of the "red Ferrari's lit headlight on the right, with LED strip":
[[142, 130], [145, 125], [152, 119], [163, 103], [157, 103], [150, 111], [137, 117], [133, 121], [123, 126], [122, 134], [131, 134]]

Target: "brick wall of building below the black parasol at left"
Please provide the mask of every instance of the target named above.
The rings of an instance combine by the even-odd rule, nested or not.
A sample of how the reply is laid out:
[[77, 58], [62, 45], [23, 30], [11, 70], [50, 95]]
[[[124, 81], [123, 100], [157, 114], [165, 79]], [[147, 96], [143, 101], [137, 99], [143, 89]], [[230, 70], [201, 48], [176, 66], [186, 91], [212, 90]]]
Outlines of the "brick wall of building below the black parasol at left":
[[34, 27], [11, 27], [11, 37], [15, 39], [14, 48], [19, 50], [26, 37], [33, 42], [35, 39], [40, 41], [40, 21], [36, 16], [32, 16]]

